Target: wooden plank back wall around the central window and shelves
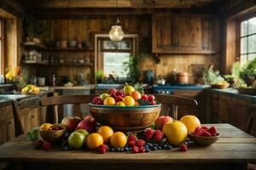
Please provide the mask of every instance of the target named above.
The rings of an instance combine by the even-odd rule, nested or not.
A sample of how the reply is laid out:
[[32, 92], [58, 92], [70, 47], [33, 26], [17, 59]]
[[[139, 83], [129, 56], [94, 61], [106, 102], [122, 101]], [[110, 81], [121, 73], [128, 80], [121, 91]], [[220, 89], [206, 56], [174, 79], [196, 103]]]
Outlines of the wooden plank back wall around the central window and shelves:
[[[119, 17], [121, 26], [125, 33], [137, 33], [139, 44], [142, 45], [144, 37], [148, 37], [151, 41], [152, 37], [152, 16], [148, 15], [123, 15]], [[93, 45], [93, 33], [106, 33], [110, 29], [113, 16], [102, 16], [90, 19], [74, 19], [74, 20], [43, 20], [49, 26], [50, 39], [52, 41], [60, 40], [76, 40], [81, 42], [90, 42]], [[84, 53], [62, 53], [62, 56], [76, 55], [78, 58]], [[161, 54], [160, 63], [156, 64], [152, 55], [141, 55], [140, 68], [142, 71], [153, 70], [156, 76], [168, 77], [173, 69], [177, 71], [188, 71], [193, 82], [191, 71], [192, 65], [216, 65], [216, 69], [220, 65], [220, 55], [218, 54]], [[91, 55], [94, 59], [94, 55]], [[87, 82], [90, 82], [91, 71], [88, 67], [49, 67], [47, 74], [57, 71], [59, 76], [69, 76], [74, 79], [79, 73], [84, 73]], [[44, 72], [46, 73], [46, 72]]]

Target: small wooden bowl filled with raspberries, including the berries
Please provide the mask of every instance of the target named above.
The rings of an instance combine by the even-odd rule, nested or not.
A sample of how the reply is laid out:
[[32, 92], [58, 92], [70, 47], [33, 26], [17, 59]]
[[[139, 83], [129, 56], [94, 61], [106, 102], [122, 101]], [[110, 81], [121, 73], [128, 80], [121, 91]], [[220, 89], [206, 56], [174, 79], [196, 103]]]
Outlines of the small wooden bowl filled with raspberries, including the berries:
[[196, 127], [195, 131], [189, 133], [189, 139], [200, 146], [209, 146], [219, 138], [216, 127]]

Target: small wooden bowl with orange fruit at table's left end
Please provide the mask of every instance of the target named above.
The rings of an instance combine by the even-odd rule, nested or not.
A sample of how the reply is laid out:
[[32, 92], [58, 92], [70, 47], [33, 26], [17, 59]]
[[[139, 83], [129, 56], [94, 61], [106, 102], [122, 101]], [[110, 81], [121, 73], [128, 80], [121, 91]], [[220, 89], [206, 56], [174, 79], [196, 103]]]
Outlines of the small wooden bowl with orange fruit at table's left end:
[[48, 142], [61, 139], [64, 133], [66, 133], [66, 127], [61, 124], [44, 123], [39, 129], [41, 138]]

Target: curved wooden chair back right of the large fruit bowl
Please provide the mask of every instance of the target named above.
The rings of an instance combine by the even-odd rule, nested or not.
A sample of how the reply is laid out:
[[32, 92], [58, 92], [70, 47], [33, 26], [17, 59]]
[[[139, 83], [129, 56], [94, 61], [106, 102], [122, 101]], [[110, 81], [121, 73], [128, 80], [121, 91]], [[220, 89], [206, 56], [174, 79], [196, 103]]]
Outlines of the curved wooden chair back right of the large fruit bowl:
[[[197, 101], [192, 98], [185, 98], [170, 94], [154, 94], [157, 101], [172, 109], [172, 117], [177, 120], [177, 109], [179, 105], [196, 106]], [[164, 107], [164, 106], [163, 106]]]

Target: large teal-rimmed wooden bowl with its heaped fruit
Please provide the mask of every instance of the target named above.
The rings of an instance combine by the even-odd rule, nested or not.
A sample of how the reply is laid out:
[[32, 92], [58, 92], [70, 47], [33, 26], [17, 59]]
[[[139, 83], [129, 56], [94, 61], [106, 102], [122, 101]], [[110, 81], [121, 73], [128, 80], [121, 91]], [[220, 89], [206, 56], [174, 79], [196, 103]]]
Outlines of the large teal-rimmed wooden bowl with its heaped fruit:
[[154, 95], [143, 94], [142, 88], [128, 84], [123, 89], [108, 89], [89, 104], [91, 116], [101, 125], [123, 132], [141, 131], [160, 115], [161, 105]]

